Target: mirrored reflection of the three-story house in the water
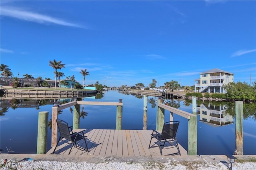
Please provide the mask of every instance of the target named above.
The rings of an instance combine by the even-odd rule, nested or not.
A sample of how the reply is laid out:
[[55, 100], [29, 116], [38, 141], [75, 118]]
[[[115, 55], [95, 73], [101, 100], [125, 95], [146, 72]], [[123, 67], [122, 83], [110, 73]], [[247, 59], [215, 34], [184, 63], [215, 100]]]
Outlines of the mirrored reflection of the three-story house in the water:
[[200, 121], [206, 122], [206, 123], [211, 123], [213, 125], [228, 125], [233, 122], [233, 117], [224, 114], [226, 111], [227, 107], [225, 105], [213, 105], [213, 104], [208, 104], [208, 106], [201, 104], [200, 107], [197, 107], [197, 114], [200, 114]]

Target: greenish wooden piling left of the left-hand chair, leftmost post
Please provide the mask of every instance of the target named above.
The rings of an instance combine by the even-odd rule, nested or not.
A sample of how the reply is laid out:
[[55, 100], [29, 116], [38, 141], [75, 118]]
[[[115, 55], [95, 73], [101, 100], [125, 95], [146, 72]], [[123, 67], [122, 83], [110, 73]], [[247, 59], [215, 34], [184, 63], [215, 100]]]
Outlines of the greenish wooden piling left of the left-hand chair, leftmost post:
[[38, 114], [36, 154], [46, 154], [48, 115], [49, 111], [40, 111]]

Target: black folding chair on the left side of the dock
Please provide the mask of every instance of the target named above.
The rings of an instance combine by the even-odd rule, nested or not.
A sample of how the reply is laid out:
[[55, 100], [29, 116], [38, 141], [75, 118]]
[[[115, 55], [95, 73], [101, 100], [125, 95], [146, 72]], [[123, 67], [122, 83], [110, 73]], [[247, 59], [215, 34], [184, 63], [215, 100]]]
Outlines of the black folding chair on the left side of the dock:
[[[60, 119], [56, 119], [56, 122], [57, 122], [57, 126], [58, 126], [58, 131], [60, 133], [60, 138], [58, 140], [58, 143], [60, 142], [61, 139], [66, 139], [70, 142], [72, 142], [72, 146], [70, 148], [70, 151], [68, 152], [68, 154], [70, 154], [71, 150], [72, 150], [72, 147], [75, 146], [78, 147], [78, 145], [76, 144], [77, 141], [80, 141], [80, 140], [84, 140], [84, 143], [86, 145], [86, 151], [89, 152], [88, 150], [88, 146], [87, 146], [87, 143], [86, 143], [86, 137], [87, 136], [84, 136], [84, 131], [80, 131], [80, 132], [75, 132], [73, 133], [72, 131], [72, 126], [68, 126], [68, 123], [63, 121], [63, 120], [60, 120]], [[68, 143], [68, 141], [65, 141], [66, 143]], [[52, 154], [54, 154], [57, 146], [58, 146], [58, 143], [56, 144], [56, 147], [54, 148]]]

